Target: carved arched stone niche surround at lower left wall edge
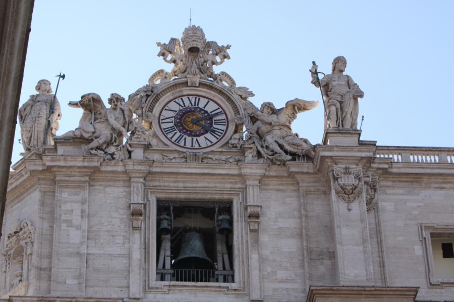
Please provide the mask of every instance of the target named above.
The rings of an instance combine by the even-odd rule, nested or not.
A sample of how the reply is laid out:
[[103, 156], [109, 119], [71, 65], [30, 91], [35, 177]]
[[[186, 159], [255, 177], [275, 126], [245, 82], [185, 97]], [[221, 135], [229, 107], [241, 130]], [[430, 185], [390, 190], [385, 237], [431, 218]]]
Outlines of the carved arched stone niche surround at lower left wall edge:
[[2, 251], [4, 256], [2, 285], [7, 290], [28, 282], [34, 233], [35, 228], [31, 223], [22, 221], [6, 237], [5, 249]]

